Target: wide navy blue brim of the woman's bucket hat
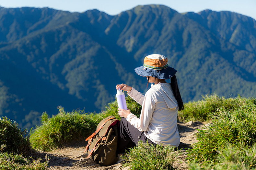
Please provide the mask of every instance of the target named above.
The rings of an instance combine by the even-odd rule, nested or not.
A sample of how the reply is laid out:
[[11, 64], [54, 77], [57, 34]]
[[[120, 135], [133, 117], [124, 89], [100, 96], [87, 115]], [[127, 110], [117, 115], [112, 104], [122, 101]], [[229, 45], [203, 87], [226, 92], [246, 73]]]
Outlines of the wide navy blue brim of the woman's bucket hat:
[[175, 70], [174, 68], [172, 68], [170, 66], [165, 69], [162, 69], [162, 70], [153, 70], [150, 68], [143, 70], [143, 68], [145, 68], [145, 67], [140, 66], [140, 67], [136, 67], [134, 70], [137, 75], [152, 76], [157, 79], [169, 79], [169, 78], [173, 77], [177, 72], [177, 70]]

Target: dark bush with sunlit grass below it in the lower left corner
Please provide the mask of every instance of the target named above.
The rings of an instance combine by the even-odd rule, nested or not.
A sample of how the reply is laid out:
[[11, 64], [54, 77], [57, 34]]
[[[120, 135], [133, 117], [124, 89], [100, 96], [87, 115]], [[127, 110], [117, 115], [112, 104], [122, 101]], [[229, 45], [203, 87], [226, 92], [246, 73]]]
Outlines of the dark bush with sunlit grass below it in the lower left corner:
[[46, 170], [47, 161], [41, 163], [41, 159], [29, 157], [35, 153], [27, 129], [22, 130], [6, 117], [0, 118], [0, 169]]

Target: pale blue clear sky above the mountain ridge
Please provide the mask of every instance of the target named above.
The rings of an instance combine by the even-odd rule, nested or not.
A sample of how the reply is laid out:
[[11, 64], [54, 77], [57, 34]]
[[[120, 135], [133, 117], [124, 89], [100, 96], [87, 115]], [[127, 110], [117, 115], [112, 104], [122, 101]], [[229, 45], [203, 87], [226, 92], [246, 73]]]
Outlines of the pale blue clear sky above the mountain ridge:
[[256, 19], [256, 0], [1, 0], [2, 7], [49, 7], [70, 12], [98, 9], [109, 15], [117, 15], [137, 5], [161, 4], [179, 13], [231, 11]]

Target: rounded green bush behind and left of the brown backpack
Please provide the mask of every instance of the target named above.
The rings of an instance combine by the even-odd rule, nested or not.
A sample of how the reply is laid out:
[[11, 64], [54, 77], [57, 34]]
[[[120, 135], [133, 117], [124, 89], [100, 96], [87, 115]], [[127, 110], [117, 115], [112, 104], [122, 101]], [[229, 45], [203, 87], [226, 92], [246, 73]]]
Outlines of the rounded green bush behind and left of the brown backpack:
[[93, 114], [84, 114], [80, 110], [65, 112], [61, 106], [58, 109], [59, 113], [52, 118], [47, 113], [42, 114], [42, 125], [30, 137], [33, 147], [49, 151], [63, 144], [84, 141], [98, 125], [92, 119]]

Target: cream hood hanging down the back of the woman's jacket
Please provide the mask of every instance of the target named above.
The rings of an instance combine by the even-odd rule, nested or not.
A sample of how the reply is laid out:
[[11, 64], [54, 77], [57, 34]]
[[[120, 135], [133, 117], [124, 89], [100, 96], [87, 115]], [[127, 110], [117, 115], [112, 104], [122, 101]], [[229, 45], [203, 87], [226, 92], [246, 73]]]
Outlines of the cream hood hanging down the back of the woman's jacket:
[[178, 109], [178, 102], [175, 99], [170, 83], [151, 84], [151, 87], [157, 88], [164, 98], [164, 101], [169, 109]]

